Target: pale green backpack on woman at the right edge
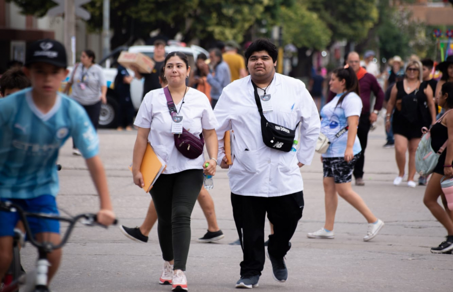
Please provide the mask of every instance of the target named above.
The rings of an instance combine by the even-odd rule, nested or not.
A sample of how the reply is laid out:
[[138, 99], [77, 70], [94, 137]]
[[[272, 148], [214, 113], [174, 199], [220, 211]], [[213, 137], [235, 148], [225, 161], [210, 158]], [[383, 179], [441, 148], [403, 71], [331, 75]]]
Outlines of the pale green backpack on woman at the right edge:
[[[447, 110], [441, 117], [436, 121], [440, 122], [442, 118], [449, 112]], [[429, 130], [426, 127], [422, 128], [423, 136], [418, 143], [417, 151], [415, 152], [415, 169], [421, 176], [430, 175], [436, 167], [439, 157], [445, 150], [447, 141], [443, 143], [442, 147], [437, 152], [434, 152], [431, 147], [431, 128]]]

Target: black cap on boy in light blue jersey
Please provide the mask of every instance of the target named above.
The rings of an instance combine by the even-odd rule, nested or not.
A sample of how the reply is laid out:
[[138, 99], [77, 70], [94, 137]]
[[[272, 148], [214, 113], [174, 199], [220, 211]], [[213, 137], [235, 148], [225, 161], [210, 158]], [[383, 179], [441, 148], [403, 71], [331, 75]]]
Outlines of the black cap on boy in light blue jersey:
[[63, 44], [50, 39], [39, 40], [31, 43], [27, 48], [25, 66], [30, 66], [30, 64], [37, 62], [66, 68], [66, 50]]

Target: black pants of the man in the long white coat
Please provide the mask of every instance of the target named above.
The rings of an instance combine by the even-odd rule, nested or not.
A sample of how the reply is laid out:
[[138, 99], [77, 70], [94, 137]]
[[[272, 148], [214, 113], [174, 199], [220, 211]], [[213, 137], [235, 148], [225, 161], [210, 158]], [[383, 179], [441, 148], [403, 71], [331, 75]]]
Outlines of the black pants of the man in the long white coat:
[[283, 257], [289, 250], [297, 222], [304, 209], [304, 193], [297, 192], [280, 197], [255, 197], [231, 194], [233, 216], [244, 254], [241, 277], [261, 275], [264, 268], [264, 220], [274, 225], [269, 236], [268, 252]]

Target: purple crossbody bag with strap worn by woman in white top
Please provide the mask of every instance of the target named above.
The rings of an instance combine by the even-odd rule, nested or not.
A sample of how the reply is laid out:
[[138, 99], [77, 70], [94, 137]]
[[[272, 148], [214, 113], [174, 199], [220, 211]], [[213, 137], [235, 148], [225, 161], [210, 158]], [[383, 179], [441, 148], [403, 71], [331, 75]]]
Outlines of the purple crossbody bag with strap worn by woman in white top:
[[[176, 112], [176, 106], [173, 102], [172, 96], [168, 87], [164, 88], [165, 98], [167, 99], [167, 106], [172, 116], [176, 116], [178, 113]], [[203, 134], [200, 134], [198, 138], [188, 130], [183, 127], [183, 132], [181, 134], [175, 134], [175, 146], [182, 155], [189, 159], [198, 158], [203, 153], [204, 147], [204, 138]]]

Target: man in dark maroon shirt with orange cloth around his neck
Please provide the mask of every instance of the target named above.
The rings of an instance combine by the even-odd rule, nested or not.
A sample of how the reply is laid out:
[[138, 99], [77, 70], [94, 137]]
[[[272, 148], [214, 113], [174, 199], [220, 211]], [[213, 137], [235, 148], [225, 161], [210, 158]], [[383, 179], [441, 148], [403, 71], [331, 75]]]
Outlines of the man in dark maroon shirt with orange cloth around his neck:
[[[378, 83], [376, 78], [367, 73], [363, 67], [360, 67], [360, 57], [357, 52], [350, 52], [347, 56], [346, 63], [355, 71], [357, 79], [359, 81], [360, 99], [362, 100], [362, 112], [360, 114], [359, 125], [357, 128], [357, 136], [360, 140], [360, 146], [362, 152], [360, 158], [357, 160], [354, 166], [354, 177], [355, 185], [363, 186], [363, 165], [365, 163], [365, 149], [368, 140], [369, 127], [378, 119], [379, 111], [382, 109], [382, 103], [384, 101], [384, 92]], [[376, 97], [374, 104], [374, 110], [371, 112], [370, 109], [370, 96], [373, 92]], [[329, 101], [335, 97], [335, 93], [329, 91]]]

